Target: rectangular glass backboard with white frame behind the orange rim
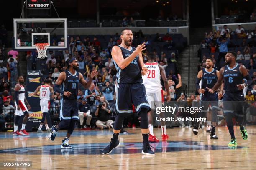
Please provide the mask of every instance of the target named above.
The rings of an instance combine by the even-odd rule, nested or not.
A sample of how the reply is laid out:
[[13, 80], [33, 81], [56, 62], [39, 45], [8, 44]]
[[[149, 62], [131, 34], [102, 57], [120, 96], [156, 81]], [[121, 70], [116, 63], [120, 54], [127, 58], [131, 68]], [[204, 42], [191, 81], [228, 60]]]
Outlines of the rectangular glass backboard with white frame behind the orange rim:
[[13, 48], [36, 49], [36, 43], [49, 43], [48, 49], [67, 49], [67, 18], [13, 19]]

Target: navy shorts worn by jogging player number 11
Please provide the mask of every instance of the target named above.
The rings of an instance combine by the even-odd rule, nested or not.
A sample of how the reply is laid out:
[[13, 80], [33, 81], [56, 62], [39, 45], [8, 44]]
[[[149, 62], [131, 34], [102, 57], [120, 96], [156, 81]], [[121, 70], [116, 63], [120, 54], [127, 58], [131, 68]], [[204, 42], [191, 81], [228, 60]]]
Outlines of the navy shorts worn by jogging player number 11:
[[77, 100], [68, 100], [68, 99], [61, 98], [60, 112], [59, 112], [60, 120], [67, 120], [67, 119], [79, 120], [78, 108], [79, 108], [79, 105]]

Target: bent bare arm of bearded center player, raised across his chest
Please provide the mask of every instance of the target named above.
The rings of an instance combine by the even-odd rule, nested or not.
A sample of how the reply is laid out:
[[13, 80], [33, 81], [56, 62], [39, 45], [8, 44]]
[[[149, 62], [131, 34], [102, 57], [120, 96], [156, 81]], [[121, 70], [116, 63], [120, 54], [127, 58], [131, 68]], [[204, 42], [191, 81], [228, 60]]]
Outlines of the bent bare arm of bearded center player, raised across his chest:
[[145, 49], [146, 49], [145, 48], [145, 43], [143, 42], [143, 44], [138, 45], [136, 50], [129, 57], [124, 59], [121, 49], [118, 46], [114, 46], [112, 48], [111, 55], [112, 55], [113, 60], [115, 61], [115, 63], [118, 65], [118, 67], [120, 67], [121, 69], [124, 69], [125, 67], [127, 67], [133, 61], [133, 59], [139, 53], [141, 53]]

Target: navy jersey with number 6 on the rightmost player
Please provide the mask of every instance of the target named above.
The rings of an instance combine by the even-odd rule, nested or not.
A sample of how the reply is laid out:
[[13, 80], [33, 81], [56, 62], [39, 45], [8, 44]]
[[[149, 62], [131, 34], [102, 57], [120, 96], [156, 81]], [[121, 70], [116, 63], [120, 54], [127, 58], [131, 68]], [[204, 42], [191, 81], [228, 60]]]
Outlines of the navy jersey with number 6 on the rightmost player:
[[236, 64], [236, 66], [233, 69], [230, 69], [228, 65], [225, 65], [224, 67], [224, 90], [225, 92], [241, 92], [243, 90], [238, 90], [237, 85], [240, 85], [243, 83], [243, 75], [239, 71], [239, 64]]

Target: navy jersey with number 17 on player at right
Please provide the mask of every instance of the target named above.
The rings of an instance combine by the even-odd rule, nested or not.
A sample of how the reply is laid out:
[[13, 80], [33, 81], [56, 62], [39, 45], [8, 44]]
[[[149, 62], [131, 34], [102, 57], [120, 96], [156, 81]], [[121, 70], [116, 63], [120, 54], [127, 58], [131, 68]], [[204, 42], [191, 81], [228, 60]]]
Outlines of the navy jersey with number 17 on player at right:
[[202, 85], [201, 85], [201, 89], [206, 89], [206, 87], [208, 88], [212, 88], [215, 83], [217, 82], [217, 70], [215, 70], [214, 68], [212, 68], [211, 72], [208, 72], [205, 69], [202, 70]]

